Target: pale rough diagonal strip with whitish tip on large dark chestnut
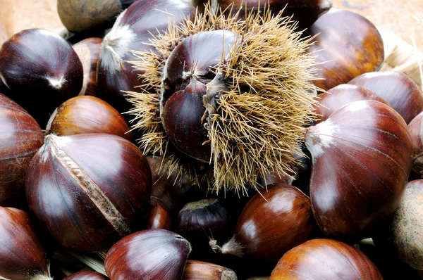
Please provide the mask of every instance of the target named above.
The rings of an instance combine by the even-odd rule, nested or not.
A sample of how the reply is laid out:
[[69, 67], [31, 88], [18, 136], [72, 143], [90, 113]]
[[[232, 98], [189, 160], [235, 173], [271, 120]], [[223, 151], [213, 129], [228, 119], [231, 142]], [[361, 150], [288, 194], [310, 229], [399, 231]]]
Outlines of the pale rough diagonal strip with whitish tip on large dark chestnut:
[[[46, 137], [47, 145], [51, 145], [51, 152], [57, 160], [68, 170], [69, 174], [78, 182], [85, 193], [90, 197], [94, 205], [99, 208], [102, 215], [110, 222], [110, 224], [116, 229], [118, 234], [123, 237], [131, 233], [130, 228], [125, 223], [123, 216], [111, 203], [109, 198], [99, 189], [99, 186], [90, 178], [90, 176], [79, 167], [77, 163], [66, 154], [60, 145], [66, 145], [66, 141], [60, 136], [49, 135]], [[46, 146], [47, 146], [46, 145]], [[47, 151], [44, 151], [47, 155]], [[42, 158], [44, 160], [45, 158]]]

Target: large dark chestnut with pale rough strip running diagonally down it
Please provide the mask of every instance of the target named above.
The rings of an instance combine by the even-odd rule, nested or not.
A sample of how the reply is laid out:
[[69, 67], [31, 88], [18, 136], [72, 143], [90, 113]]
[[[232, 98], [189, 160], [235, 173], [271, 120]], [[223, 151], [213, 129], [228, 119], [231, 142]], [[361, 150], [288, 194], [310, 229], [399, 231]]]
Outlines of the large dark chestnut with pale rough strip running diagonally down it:
[[64, 248], [109, 248], [142, 224], [152, 184], [147, 160], [112, 134], [49, 134], [28, 167], [30, 210]]

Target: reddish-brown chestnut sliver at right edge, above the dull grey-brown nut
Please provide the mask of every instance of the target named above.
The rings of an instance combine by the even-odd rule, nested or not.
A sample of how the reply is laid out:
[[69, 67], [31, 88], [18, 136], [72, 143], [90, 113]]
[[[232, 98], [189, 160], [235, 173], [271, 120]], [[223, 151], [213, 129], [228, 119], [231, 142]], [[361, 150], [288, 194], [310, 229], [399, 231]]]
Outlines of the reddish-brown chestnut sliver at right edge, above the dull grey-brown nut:
[[423, 112], [419, 113], [408, 124], [408, 132], [410, 132], [412, 141], [412, 170], [423, 175]]

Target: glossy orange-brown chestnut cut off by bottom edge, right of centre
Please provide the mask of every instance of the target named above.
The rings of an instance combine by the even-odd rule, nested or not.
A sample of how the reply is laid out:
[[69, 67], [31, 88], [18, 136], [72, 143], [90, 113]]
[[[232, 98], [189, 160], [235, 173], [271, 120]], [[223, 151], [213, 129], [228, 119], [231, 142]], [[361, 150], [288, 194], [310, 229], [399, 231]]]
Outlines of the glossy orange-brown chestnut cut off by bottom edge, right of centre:
[[289, 250], [279, 260], [270, 280], [382, 280], [364, 253], [341, 241], [312, 239]]

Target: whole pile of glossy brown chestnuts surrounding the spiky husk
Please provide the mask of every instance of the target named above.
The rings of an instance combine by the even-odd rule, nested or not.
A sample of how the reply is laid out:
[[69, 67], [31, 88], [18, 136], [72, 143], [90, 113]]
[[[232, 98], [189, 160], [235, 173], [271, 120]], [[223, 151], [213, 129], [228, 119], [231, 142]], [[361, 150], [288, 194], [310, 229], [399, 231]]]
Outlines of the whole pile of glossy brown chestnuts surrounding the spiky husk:
[[23, 30], [0, 49], [0, 279], [423, 277], [423, 92], [378, 72], [369, 20], [269, 1], [317, 35], [319, 117], [293, 177], [239, 197], [143, 155], [125, 113], [142, 84], [131, 50], [207, 1], [80, 2], [58, 1], [73, 39]]

